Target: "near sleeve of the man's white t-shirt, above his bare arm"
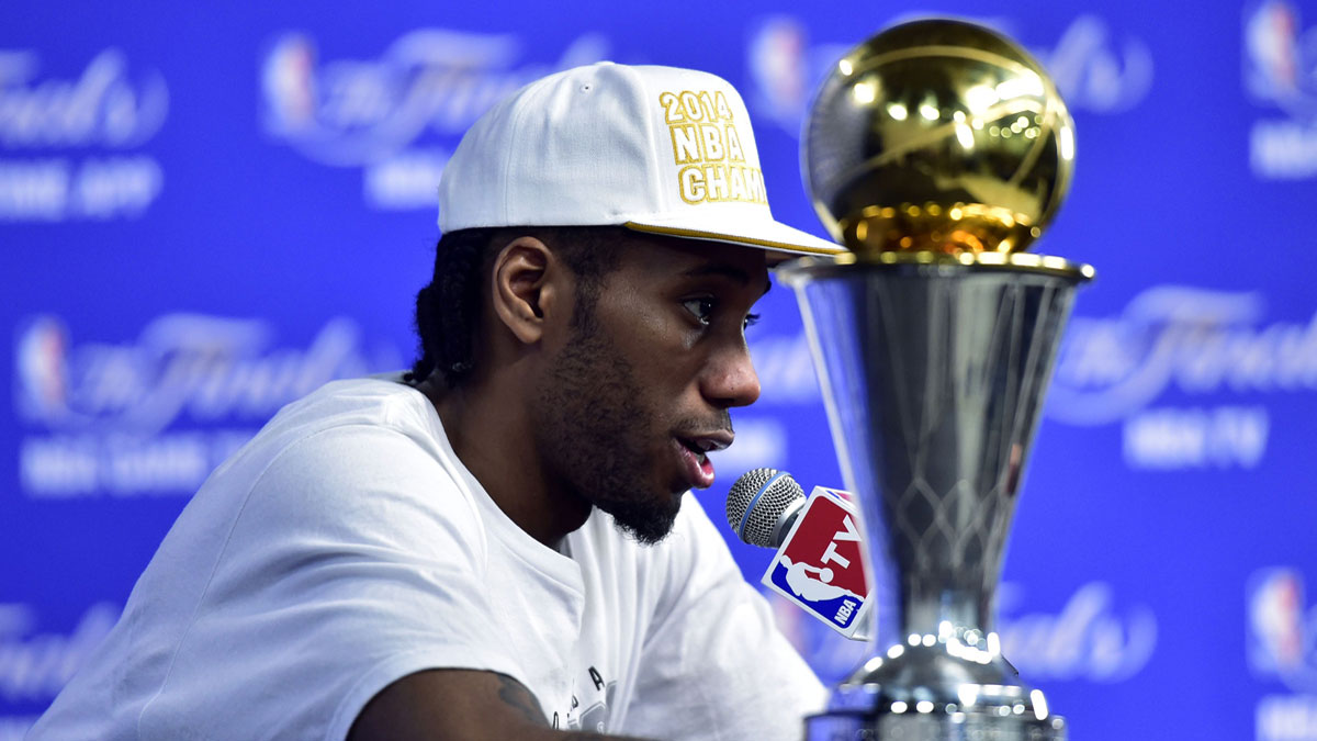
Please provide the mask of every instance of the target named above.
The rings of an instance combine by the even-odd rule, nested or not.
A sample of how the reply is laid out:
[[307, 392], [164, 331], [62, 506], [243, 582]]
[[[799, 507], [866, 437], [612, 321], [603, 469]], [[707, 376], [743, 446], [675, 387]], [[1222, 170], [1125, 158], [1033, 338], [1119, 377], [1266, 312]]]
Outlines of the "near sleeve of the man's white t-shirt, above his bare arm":
[[479, 617], [494, 610], [478, 522], [454, 476], [387, 427], [336, 427], [284, 450], [234, 519], [144, 737], [341, 740], [408, 674], [518, 676]]

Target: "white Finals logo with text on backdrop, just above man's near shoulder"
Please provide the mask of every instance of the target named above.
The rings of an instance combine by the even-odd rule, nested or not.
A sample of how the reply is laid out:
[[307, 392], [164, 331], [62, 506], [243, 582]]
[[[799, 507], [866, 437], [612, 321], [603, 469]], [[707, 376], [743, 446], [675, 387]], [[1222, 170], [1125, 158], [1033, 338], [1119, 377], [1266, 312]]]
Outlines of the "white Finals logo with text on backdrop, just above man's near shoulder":
[[59, 316], [18, 327], [18, 489], [29, 498], [191, 494], [283, 405], [335, 378], [396, 368], [348, 319], [306, 348], [261, 320], [166, 314], [136, 340], [79, 343]]

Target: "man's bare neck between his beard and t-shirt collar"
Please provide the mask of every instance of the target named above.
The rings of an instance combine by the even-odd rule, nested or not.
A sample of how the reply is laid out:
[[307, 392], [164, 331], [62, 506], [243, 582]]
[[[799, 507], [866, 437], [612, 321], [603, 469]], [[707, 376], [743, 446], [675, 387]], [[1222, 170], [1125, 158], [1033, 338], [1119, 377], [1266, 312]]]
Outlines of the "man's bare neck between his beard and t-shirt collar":
[[[545, 473], [527, 405], [510, 405], [498, 384], [471, 381], [446, 389], [433, 377], [417, 384], [444, 425], [453, 452], [503, 514], [545, 546], [585, 525], [591, 505]], [[497, 400], [497, 401], [495, 401]]]

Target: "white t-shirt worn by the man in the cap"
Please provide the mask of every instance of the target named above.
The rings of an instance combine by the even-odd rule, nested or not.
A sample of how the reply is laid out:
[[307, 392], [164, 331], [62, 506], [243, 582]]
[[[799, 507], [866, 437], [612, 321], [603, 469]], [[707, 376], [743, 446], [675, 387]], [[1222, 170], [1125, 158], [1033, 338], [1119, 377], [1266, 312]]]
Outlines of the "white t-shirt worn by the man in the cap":
[[823, 704], [694, 497], [662, 543], [594, 512], [564, 555], [385, 378], [284, 407], [202, 487], [42, 738], [331, 738], [425, 668], [516, 678], [551, 723], [799, 738]]

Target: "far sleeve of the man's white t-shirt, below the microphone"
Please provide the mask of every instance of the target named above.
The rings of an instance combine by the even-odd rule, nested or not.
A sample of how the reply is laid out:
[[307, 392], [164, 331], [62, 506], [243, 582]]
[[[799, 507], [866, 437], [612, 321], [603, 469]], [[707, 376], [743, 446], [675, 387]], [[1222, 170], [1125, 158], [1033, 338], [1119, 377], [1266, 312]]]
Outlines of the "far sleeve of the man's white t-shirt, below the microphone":
[[644, 641], [626, 732], [660, 738], [799, 740], [827, 694], [687, 496]]

